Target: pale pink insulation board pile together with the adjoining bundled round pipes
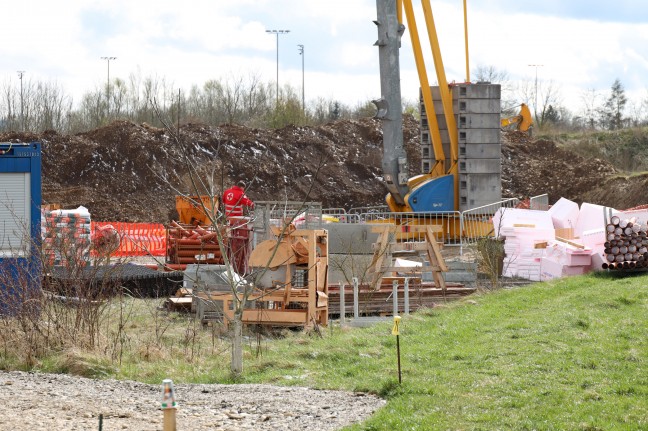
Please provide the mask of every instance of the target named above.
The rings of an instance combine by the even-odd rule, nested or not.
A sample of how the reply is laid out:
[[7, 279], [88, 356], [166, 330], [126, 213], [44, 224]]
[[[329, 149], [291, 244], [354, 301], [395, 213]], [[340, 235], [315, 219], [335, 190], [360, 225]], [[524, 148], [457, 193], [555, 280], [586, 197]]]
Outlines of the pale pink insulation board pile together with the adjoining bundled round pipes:
[[500, 209], [503, 275], [533, 281], [589, 271], [648, 269], [648, 210], [619, 211], [561, 198], [547, 211]]

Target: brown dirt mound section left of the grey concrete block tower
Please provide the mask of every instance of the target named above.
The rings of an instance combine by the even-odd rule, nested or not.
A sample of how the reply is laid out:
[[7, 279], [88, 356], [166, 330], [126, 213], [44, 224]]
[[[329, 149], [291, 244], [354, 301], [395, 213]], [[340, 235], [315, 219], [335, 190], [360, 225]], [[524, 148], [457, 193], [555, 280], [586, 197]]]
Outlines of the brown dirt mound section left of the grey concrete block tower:
[[[414, 175], [418, 124], [404, 121]], [[318, 201], [324, 207], [381, 205], [382, 131], [374, 119], [278, 130], [186, 124], [178, 139], [147, 124], [116, 121], [74, 136], [5, 133], [0, 141], [43, 143], [43, 200], [83, 205], [96, 220], [167, 222], [175, 196], [193, 190], [189, 171], [223, 190], [248, 182], [254, 200]]]

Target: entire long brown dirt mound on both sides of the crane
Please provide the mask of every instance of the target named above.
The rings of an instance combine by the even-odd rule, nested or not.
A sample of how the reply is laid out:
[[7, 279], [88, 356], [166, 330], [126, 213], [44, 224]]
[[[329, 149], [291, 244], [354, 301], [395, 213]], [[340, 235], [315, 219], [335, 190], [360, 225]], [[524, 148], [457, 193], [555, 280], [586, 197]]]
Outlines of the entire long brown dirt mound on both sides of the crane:
[[[256, 200], [318, 201], [324, 207], [382, 205], [382, 131], [375, 119], [318, 127], [251, 129], [186, 124], [178, 139], [147, 124], [116, 121], [87, 133], [4, 133], [0, 141], [43, 143], [43, 200], [83, 205], [95, 220], [165, 223], [175, 196], [192, 191], [189, 171], [223, 190], [237, 179]], [[404, 120], [410, 175], [419, 173], [419, 127]], [[618, 209], [646, 203], [647, 176], [620, 178], [599, 159], [584, 159], [554, 142], [502, 134], [505, 197], [548, 193]]]

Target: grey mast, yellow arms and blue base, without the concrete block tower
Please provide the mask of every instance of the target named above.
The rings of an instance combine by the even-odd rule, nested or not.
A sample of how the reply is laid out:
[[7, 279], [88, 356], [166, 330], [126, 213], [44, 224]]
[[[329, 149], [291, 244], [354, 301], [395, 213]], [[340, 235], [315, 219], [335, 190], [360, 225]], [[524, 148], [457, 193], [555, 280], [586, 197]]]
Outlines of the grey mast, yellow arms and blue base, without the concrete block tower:
[[[423, 62], [421, 43], [411, 0], [395, 2], [377, 0], [378, 55], [380, 63], [381, 98], [374, 100], [376, 117], [383, 127], [383, 173], [388, 189], [387, 205], [393, 212], [456, 211], [458, 210], [458, 136], [452, 106], [452, 95], [443, 69], [432, 10], [423, 0], [423, 12], [434, 57], [437, 81], [445, 122], [450, 138], [450, 155], [446, 155], [435, 115], [429, 80]], [[409, 178], [407, 155], [403, 147], [402, 111], [400, 93], [400, 39], [405, 31], [402, 23], [405, 12], [414, 58], [421, 82], [421, 94], [430, 121], [431, 141], [435, 162], [429, 172]]]

